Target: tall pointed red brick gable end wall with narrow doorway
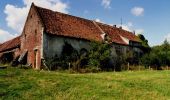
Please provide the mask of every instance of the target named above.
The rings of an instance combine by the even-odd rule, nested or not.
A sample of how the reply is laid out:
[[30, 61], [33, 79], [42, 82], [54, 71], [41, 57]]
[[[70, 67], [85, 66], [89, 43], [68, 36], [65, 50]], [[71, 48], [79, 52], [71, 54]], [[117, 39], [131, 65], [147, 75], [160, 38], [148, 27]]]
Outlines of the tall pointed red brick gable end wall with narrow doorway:
[[41, 66], [41, 39], [42, 24], [36, 8], [32, 5], [21, 36], [21, 52], [28, 51], [27, 63], [36, 69]]

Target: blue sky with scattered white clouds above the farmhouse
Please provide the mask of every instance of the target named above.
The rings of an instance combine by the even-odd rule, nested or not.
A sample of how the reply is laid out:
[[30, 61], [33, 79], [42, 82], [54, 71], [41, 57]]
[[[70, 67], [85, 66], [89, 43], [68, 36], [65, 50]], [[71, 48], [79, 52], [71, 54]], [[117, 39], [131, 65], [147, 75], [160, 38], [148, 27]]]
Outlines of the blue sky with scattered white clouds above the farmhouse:
[[[143, 34], [150, 46], [170, 42], [170, 0], [0, 0], [0, 43], [22, 33], [31, 3]], [[122, 20], [122, 21], [121, 21]]]

